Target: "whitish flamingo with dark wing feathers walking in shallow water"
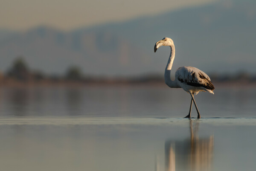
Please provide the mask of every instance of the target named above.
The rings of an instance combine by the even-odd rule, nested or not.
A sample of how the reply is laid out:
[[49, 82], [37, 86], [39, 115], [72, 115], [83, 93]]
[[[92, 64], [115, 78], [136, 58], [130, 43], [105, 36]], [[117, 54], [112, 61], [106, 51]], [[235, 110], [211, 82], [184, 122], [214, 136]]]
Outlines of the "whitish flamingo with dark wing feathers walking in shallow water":
[[185, 116], [185, 118], [191, 118], [191, 109], [192, 109], [192, 101], [195, 104], [195, 109], [198, 113], [198, 119], [201, 118], [198, 107], [195, 103], [194, 95], [197, 95], [199, 92], [209, 92], [213, 93], [215, 89], [211, 79], [209, 76], [204, 73], [203, 71], [195, 68], [195, 67], [179, 67], [175, 72], [175, 80], [172, 81], [171, 79], [171, 70], [173, 60], [175, 58], [175, 46], [171, 38], [163, 38], [162, 40], [158, 41], [154, 46], [154, 52], [160, 46], [170, 46], [171, 53], [169, 56], [168, 63], [166, 65], [165, 73], [164, 73], [164, 80], [165, 83], [171, 88], [183, 88], [187, 93], [191, 96], [189, 114]]

